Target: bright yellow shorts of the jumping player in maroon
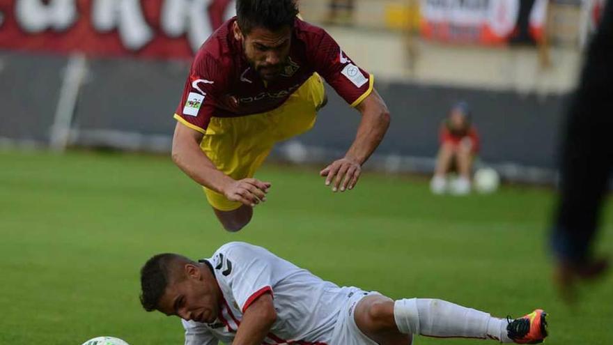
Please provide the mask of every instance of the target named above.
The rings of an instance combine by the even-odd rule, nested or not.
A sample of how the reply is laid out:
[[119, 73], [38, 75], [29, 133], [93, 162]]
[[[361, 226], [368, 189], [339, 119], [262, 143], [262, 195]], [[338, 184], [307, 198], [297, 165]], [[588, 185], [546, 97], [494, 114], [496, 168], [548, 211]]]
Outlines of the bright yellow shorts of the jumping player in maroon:
[[[224, 174], [240, 180], [253, 177], [272, 146], [310, 130], [323, 105], [325, 89], [315, 73], [283, 105], [270, 112], [248, 116], [212, 117], [200, 147]], [[203, 187], [217, 210], [235, 210], [242, 204]]]

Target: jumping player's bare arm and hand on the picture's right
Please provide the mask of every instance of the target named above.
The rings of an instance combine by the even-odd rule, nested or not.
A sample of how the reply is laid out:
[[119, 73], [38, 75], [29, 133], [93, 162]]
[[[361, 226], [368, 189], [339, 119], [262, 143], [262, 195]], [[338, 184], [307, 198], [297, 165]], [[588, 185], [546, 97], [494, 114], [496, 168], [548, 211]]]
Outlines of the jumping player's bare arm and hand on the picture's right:
[[379, 146], [387, 128], [389, 128], [389, 110], [376, 90], [364, 98], [356, 109], [362, 113], [362, 121], [357, 128], [357, 135], [345, 157], [329, 164], [320, 171], [324, 176], [325, 184], [332, 184], [332, 191], [351, 190], [355, 187], [362, 164], [368, 160], [373, 151]]

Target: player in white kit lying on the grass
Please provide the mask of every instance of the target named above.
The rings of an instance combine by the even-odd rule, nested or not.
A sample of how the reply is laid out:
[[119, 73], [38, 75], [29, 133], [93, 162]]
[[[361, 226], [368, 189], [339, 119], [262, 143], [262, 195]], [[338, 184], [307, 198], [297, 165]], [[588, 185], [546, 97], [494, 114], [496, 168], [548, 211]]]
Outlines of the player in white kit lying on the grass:
[[405, 345], [412, 335], [536, 344], [545, 312], [498, 319], [444, 300], [391, 300], [339, 287], [262, 247], [227, 243], [198, 262], [158, 254], [141, 268], [141, 303], [183, 319], [186, 345]]

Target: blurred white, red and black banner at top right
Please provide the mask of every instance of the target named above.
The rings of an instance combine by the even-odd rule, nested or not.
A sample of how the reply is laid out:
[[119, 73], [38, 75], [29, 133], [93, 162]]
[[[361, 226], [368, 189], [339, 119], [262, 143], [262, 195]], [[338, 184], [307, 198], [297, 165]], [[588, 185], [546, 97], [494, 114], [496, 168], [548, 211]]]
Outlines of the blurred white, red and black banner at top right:
[[498, 45], [543, 39], [548, 0], [421, 0], [421, 36]]

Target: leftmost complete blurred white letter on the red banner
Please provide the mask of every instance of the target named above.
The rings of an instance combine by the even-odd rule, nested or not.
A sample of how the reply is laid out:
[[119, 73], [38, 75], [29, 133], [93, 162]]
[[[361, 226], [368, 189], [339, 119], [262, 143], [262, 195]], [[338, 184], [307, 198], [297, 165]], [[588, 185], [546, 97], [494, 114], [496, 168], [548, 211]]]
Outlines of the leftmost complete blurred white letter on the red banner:
[[17, 0], [15, 18], [20, 27], [29, 33], [39, 33], [47, 29], [63, 31], [77, 20], [75, 0]]

